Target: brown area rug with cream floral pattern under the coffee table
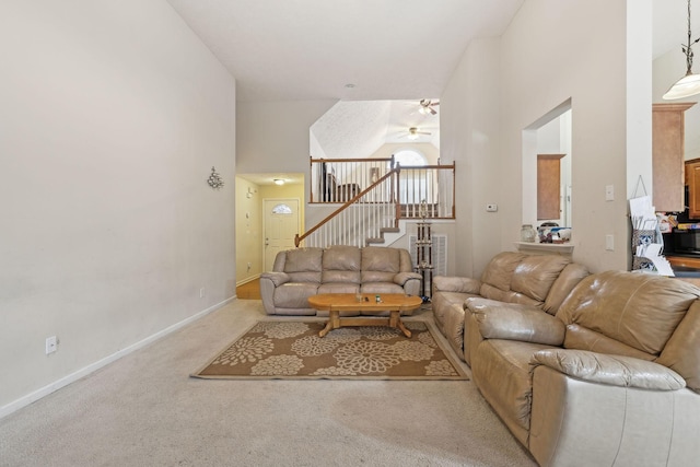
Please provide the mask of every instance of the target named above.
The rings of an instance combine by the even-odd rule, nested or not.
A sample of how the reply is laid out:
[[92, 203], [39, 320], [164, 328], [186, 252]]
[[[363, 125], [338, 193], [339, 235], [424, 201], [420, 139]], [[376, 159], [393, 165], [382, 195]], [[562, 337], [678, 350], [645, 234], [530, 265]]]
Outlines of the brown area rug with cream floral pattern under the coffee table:
[[407, 322], [411, 337], [384, 326], [334, 329], [323, 322], [261, 320], [191, 376], [289, 380], [468, 380], [434, 338], [433, 325]]

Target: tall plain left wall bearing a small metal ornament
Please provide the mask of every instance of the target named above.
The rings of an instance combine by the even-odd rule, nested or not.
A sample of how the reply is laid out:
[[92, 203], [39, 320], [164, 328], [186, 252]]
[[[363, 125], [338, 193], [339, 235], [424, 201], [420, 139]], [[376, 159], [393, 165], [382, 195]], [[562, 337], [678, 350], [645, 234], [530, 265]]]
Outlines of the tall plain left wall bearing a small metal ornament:
[[2, 2], [0, 56], [2, 415], [235, 293], [235, 81], [162, 0]]

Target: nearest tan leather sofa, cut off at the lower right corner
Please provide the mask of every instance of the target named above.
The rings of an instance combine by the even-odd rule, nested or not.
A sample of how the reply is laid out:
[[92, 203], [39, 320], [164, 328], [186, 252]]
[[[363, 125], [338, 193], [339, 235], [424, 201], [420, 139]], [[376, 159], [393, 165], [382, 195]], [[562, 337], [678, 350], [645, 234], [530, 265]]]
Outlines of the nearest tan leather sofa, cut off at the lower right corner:
[[465, 302], [471, 376], [541, 466], [700, 462], [700, 289], [606, 271], [556, 315]]

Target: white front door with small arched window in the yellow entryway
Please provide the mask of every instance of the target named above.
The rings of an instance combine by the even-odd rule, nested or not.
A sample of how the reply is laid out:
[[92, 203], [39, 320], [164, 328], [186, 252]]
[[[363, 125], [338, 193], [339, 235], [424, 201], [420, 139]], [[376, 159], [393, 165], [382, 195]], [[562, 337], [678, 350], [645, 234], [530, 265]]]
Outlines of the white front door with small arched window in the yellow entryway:
[[265, 242], [262, 257], [265, 271], [271, 271], [279, 252], [294, 248], [294, 235], [299, 232], [299, 199], [265, 199]]

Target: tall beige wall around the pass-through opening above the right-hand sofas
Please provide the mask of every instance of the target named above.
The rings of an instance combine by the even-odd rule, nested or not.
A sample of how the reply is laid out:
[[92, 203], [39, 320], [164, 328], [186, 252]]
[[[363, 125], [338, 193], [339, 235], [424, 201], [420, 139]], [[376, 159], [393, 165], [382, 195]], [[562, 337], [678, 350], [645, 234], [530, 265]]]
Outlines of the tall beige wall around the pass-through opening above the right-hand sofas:
[[[503, 186], [522, 189], [522, 130], [571, 98], [573, 257], [594, 271], [627, 268], [626, 44], [626, 4], [607, 0], [526, 1], [502, 42]], [[521, 209], [504, 206], [503, 248], [535, 223]]]

